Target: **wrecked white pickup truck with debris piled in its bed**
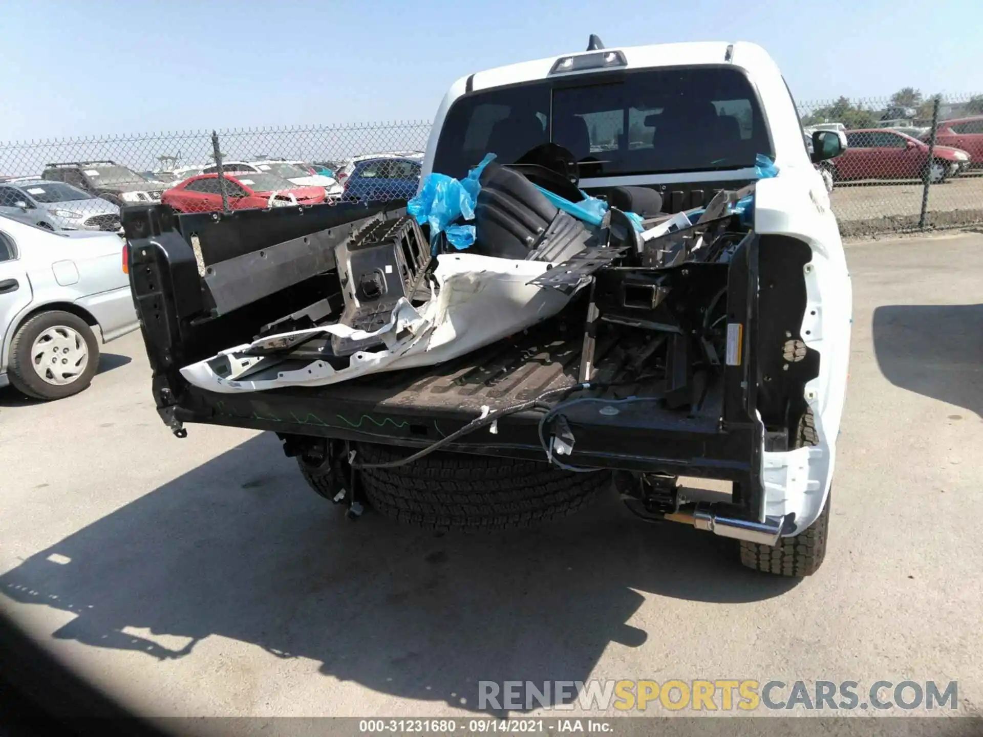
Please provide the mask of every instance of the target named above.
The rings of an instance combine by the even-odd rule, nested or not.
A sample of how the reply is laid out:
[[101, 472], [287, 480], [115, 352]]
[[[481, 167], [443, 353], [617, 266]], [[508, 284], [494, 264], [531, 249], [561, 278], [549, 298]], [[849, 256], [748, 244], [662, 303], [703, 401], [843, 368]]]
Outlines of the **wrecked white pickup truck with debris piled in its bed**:
[[452, 85], [409, 214], [128, 207], [158, 412], [276, 432], [351, 516], [496, 529], [613, 487], [811, 574], [851, 313], [813, 166], [845, 142], [813, 144], [756, 45], [592, 36]]

